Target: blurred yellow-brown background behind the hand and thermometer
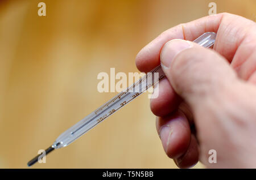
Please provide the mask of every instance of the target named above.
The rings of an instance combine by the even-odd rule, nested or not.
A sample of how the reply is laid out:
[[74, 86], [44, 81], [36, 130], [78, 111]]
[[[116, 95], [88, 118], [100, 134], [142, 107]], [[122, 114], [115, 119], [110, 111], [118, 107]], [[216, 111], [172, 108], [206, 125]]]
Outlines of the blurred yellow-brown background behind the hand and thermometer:
[[[38, 3], [47, 16], [38, 16]], [[27, 168], [39, 149], [116, 93], [100, 72], [138, 72], [135, 56], [164, 30], [217, 12], [255, 20], [255, 0], [0, 2], [0, 168]], [[197, 164], [195, 168], [203, 168]], [[176, 168], [163, 151], [147, 95], [32, 168]]]

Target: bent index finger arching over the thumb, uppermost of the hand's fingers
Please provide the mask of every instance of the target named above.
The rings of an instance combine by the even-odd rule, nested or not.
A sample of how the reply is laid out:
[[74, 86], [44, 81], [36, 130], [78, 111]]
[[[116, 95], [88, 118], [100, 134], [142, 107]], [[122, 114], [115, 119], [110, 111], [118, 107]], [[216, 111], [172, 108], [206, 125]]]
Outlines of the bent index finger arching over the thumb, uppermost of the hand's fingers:
[[[189, 23], [179, 24], [161, 33], [138, 53], [137, 68], [142, 72], [148, 72], [158, 66], [160, 51], [166, 42], [175, 38], [193, 41], [205, 32], [217, 33], [214, 50], [231, 62], [238, 46], [247, 38], [247, 31], [250, 31], [251, 25], [255, 25], [255, 23], [228, 13], [205, 16]], [[238, 56], [246, 57], [246, 54], [238, 53]], [[239, 63], [241, 59], [236, 59], [236, 61]]]

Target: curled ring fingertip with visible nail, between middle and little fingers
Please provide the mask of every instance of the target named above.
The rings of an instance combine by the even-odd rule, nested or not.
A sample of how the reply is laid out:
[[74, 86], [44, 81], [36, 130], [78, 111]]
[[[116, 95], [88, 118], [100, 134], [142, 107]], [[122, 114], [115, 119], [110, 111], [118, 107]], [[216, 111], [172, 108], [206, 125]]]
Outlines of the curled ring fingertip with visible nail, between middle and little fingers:
[[167, 117], [157, 117], [156, 129], [168, 157], [177, 158], [187, 152], [191, 131], [184, 114], [175, 112]]

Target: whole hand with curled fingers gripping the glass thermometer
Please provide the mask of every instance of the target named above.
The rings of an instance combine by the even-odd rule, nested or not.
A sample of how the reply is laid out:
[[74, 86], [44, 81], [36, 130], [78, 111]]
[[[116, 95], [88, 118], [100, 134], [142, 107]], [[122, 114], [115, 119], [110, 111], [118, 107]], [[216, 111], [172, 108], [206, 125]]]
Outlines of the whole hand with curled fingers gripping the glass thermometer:
[[[204, 32], [217, 33], [213, 50], [190, 42]], [[159, 64], [166, 78], [150, 106], [168, 157], [180, 168], [256, 168], [256, 24], [223, 13], [177, 25], [137, 55], [140, 71]]]

